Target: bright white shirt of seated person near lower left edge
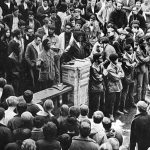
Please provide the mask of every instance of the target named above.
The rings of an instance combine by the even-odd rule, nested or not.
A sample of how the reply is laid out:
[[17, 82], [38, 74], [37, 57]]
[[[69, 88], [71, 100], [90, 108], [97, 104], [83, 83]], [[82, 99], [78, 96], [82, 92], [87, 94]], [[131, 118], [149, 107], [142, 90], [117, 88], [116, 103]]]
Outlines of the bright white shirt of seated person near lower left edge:
[[7, 125], [8, 121], [16, 115], [17, 114], [14, 112], [14, 108], [9, 107], [7, 110], [5, 110], [5, 125]]

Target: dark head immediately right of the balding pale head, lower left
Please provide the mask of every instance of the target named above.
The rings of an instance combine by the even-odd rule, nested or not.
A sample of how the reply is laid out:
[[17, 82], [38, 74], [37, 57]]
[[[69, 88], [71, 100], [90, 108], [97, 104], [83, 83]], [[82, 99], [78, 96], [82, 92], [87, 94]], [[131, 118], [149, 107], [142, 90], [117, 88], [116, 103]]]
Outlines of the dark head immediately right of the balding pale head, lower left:
[[36, 116], [33, 119], [33, 125], [36, 128], [41, 128], [44, 125], [44, 122], [45, 122], [45, 120], [42, 116]]

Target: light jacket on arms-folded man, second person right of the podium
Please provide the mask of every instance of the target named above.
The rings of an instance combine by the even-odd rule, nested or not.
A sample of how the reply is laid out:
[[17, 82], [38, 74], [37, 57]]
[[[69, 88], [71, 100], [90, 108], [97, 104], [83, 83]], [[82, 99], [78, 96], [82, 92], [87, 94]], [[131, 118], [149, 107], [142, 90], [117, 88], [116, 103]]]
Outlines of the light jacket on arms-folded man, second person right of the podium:
[[110, 63], [107, 67], [107, 88], [110, 93], [121, 92], [122, 82], [121, 79], [124, 77], [124, 71], [121, 66]]

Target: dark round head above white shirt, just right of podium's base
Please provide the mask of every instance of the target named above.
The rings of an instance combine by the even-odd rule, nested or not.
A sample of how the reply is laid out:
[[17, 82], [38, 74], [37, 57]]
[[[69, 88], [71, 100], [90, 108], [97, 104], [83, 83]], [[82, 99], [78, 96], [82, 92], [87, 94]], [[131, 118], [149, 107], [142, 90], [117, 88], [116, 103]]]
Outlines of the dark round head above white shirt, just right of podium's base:
[[95, 111], [93, 113], [93, 122], [94, 123], [98, 123], [98, 124], [101, 123], [103, 118], [104, 118], [104, 114], [102, 111]]

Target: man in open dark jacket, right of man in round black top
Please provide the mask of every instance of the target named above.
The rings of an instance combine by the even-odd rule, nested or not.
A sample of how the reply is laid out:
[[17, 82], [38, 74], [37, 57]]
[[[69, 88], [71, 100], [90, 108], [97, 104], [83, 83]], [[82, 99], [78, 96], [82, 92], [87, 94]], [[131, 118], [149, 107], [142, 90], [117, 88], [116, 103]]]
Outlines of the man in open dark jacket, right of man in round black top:
[[146, 22], [144, 17], [138, 13], [138, 8], [133, 7], [132, 8], [132, 14], [129, 16], [129, 26], [131, 27], [133, 25], [133, 21], [138, 20], [139, 27], [145, 31], [146, 29]]

